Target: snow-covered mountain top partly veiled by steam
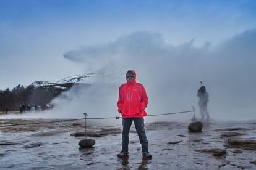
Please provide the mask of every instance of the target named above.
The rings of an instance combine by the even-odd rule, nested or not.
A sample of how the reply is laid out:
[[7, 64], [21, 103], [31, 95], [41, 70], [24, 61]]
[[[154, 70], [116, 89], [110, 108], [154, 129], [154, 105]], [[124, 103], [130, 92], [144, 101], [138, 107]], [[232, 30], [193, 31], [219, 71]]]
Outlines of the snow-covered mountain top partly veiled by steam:
[[56, 82], [56, 84], [66, 84], [66, 83], [83, 83], [83, 84], [92, 84], [95, 79], [94, 73], [75, 75], [70, 76], [64, 79], [61, 79]]

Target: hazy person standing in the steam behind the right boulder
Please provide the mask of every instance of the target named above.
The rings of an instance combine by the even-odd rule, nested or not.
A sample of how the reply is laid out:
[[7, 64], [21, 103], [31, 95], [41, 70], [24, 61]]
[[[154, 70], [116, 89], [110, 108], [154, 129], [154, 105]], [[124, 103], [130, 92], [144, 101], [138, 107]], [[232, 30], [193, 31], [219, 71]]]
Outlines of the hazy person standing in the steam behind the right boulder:
[[197, 96], [199, 97], [199, 108], [202, 121], [205, 121], [205, 115], [207, 116], [206, 121], [210, 120], [210, 115], [207, 110], [207, 103], [209, 102], [209, 94], [206, 91], [205, 86], [201, 86], [197, 91]]

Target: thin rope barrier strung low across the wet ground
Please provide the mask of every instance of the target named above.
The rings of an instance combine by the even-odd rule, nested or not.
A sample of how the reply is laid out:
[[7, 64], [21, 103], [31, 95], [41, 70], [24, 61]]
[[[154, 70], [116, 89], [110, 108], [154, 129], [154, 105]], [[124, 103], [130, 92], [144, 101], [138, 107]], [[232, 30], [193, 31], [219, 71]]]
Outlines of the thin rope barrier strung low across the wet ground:
[[[147, 115], [147, 116], [162, 116], [162, 115], [175, 115], [175, 114], [180, 114], [180, 113], [190, 113], [194, 112], [195, 110], [190, 111], [179, 111], [179, 112], [173, 112], [173, 113], [163, 113], [163, 114], [155, 114], [155, 115]], [[59, 120], [59, 121], [45, 121], [45, 122], [38, 122], [38, 123], [25, 123], [25, 124], [7, 124], [7, 125], [2, 125], [0, 127], [11, 127], [11, 126], [26, 126], [26, 125], [33, 125], [33, 124], [48, 124], [48, 123], [59, 123], [59, 122], [66, 122], [66, 121], [79, 121], [79, 120], [86, 120], [86, 119], [119, 119], [122, 117], [116, 116], [116, 117], [103, 117], [103, 118], [81, 118], [81, 119], [67, 119], [67, 120]]]

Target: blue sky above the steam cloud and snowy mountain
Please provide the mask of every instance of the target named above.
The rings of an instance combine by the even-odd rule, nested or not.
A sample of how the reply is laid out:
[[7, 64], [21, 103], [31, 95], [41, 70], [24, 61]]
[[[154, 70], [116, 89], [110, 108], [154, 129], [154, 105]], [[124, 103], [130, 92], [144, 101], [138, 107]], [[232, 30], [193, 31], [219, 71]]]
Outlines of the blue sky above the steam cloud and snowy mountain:
[[256, 28], [255, 9], [255, 1], [1, 0], [0, 89], [95, 71], [64, 54], [137, 31], [174, 47], [221, 46]]

